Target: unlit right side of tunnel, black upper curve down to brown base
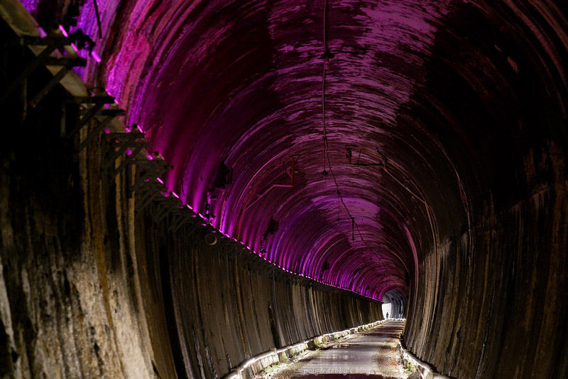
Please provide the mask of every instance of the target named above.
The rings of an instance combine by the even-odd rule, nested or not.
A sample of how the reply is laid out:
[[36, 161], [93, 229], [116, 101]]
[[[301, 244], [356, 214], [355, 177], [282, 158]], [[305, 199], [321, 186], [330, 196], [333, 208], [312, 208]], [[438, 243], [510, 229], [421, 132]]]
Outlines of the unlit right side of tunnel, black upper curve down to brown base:
[[435, 221], [415, 234], [404, 339], [456, 378], [567, 375], [567, 13], [517, 5], [457, 7], [400, 115], [429, 125], [452, 156], [420, 179]]

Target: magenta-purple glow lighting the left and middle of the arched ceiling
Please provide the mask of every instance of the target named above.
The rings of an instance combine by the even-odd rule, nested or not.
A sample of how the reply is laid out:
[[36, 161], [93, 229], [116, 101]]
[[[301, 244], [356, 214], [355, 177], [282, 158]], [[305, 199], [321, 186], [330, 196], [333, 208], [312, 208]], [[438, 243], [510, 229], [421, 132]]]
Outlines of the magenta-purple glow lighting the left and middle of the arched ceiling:
[[[101, 64], [85, 74], [102, 78], [128, 111], [126, 124], [143, 125], [151, 149], [173, 165], [158, 181], [204, 225], [288, 272], [368, 297], [408, 293], [417, 231], [407, 223], [428, 215], [380, 168], [349, 165], [346, 146], [359, 146], [364, 164], [381, 151], [397, 178], [435, 176], [405, 161], [425, 159], [396, 127], [422, 85], [408, 73], [429, 58], [449, 1], [329, 6], [329, 163], [350, 214], [322, 176], [321, 4], [251, 1], [258, 6], [233, 13], [222, 2], [192, 4], [107, 1], [100, 11], [113, 39], [97, 41], [103, 59], [93, 55]], [[92, 4], [77, 27], [96, 36]], [[217, 181], [222, 164], [233, 170], [230, 183]], [[204, 217], [207, 204], [214, 218]], [[278, 230], [268, 233], [271, 219]]]

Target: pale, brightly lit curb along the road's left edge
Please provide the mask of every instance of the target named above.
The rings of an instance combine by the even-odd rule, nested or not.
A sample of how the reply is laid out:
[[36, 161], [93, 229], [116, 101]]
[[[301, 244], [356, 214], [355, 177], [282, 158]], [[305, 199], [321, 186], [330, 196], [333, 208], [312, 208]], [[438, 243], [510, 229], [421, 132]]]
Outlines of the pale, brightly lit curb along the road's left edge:
[[[395, 319], [388, 319], [395, 320]], [[229, 374], [224, 376], [225, 379], [251, 379], [254, 375], [260, 373], [262, 370], [275, 363], [285, 363], [292, 359], [294, 356], [307, 351], [317, 350], [318, 346], [330, 343], [339, 338], [346, 338], [346, 336], [366, 331], [374, 328], [375, 326], [384, 324], [387, 320], [375, 321], [371, 324], [356, 326], [344, 331], [336, 331], [333, 333], [322, 334], [314, 338], [307, 339], [295, 343], [294, 345], [285, 346], [279, 349], [273, 349], [255, 356], [248, 361], [241, 363], [237, 368], [232, 370]]]

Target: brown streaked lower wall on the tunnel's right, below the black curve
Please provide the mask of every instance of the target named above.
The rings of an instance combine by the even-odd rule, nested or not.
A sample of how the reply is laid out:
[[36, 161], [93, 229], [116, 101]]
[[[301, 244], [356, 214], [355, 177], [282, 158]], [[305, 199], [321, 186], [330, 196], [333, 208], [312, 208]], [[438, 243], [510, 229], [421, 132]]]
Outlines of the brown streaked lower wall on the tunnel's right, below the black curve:
[[529, 183], [554, 179], [529, 186], [513, 205], [486, 204], [469, 233], [458, 231], [422, 257], [424, 285], [410, 304], [404, 339], [442, 373], [567, 375], [567, 186], [565, 174], [556, 176], [564, 171], [557, 147], [538, 150], [540, 158], [528, 153], [515, 175]]

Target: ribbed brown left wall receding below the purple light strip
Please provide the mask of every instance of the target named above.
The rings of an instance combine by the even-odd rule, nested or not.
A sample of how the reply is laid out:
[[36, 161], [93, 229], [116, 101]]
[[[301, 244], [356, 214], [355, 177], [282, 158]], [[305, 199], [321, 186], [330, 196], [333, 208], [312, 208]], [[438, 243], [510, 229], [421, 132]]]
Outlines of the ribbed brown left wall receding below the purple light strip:
[[217, 378], [275, 347], [383, 319], [379, 301], [293, 277], [229, 239], [207, 245], [207, 228], [146, 225], [146, 249], [169, 267], [178, 373]]

